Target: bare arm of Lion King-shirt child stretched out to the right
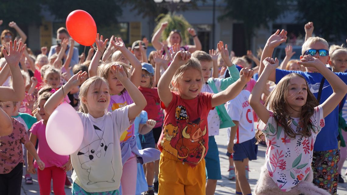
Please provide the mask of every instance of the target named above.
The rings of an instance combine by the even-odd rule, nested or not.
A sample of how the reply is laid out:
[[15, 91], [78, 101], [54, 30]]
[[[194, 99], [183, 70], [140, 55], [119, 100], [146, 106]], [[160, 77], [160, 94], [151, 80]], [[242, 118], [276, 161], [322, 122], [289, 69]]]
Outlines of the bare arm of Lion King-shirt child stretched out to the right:
[[233, 84], [229, 85], [226, 90], [214, 94], [211, 99], [212, 107], [221, 105], [229, 100], [234, 99], [253, 77], [253, 70], [243, 68], [240, 71], [240, 78]]

